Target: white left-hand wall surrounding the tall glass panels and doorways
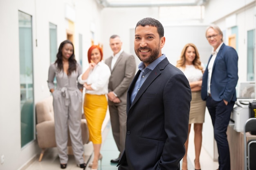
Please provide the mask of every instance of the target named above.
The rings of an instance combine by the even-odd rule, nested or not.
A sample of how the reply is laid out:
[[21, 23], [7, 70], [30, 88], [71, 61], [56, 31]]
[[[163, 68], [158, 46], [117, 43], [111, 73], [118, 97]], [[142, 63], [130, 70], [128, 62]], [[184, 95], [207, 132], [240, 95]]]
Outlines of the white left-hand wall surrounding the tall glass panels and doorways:
[[[49, 22], [57, 25], [57, 44], [66, 37], [65, 5], [76, 11], [74, 45], [79, 56], [79, 33], [83, 35], [83, 54], [91, 45], [90, 27], [95, 22], [95, 39], [101, 32], [100, 10], [95, 0], [0, 0], [0, 170], [16, 170], [40, 153], [36, 140], [20, 144], [20, 72], [18, 10], [32, 16], [34, 103], [50, 95], [47, 86], [49, 57]], [[37, 46], [36, 46], [37, 40]], [[87, 64], [87, 60], [83, 62]]]

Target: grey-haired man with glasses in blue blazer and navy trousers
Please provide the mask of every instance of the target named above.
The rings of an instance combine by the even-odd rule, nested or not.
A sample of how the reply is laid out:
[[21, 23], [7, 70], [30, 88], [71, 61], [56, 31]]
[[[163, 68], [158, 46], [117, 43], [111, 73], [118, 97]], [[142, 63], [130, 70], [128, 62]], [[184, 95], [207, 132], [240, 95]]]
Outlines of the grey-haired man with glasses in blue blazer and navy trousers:
[[213, 47], [212, 55], [202, 79], [202, 100], [211, 115], [214, 138], [218, 146], [219, 170], [230, 170], [227, 126], [236, 101], [238, 81], [238, 54], [223, 43], [222, 31], [216, 25], [206, 30], [206, 37]]

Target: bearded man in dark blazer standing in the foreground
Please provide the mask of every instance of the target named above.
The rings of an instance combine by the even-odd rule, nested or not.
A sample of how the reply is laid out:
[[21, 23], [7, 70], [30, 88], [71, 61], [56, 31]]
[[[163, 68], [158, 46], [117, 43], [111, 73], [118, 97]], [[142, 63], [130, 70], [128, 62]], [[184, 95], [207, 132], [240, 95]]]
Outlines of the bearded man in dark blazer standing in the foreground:
[[185, 154], [191, 89], [161, 49], [162, 24], [153, 18], [135, 28], [135, 53], [142, 61], [127, 93], [127, 133], [119, 170], [178, 170]]

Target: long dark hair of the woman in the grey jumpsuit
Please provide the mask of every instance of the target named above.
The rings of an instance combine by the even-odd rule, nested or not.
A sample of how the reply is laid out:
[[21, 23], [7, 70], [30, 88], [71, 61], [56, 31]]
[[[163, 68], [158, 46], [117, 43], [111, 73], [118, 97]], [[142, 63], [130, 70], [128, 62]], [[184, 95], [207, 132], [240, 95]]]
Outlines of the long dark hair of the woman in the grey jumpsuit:
[[73, 54], [68, 59], [67, 75], [70, 75], [73, 71], [76, 71], [76, 59], [75, 59], [75, 54], [74, 54], [74, 45], [70, 40], [65, 40], [61, 43], [60, 47], [58, 48], [57, 59], [55, 61], [55, 64], [57, 64], [58, 71], [63, 70], [62, 51], [61, 50], [62, 50], [63, 46], [67, 43], [69, 43], [73, 46]]

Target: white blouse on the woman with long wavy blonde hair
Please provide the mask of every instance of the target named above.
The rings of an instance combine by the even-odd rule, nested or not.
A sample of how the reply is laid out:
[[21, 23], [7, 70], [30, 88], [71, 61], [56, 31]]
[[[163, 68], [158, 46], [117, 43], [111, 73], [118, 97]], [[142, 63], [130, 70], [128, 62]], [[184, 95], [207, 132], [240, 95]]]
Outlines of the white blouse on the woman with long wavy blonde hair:
[[[204, 65], [201, 65], [201, 66], [203, 70], [205, 70]], [[185, 74], [189, 83], [202, 80], [202, 77], [203, 77], [202, 70], [195, 68], [194, 65], [186, 65], [184, 69], [180, 68], [180, 70], [182, 70], [182, 72]]]

